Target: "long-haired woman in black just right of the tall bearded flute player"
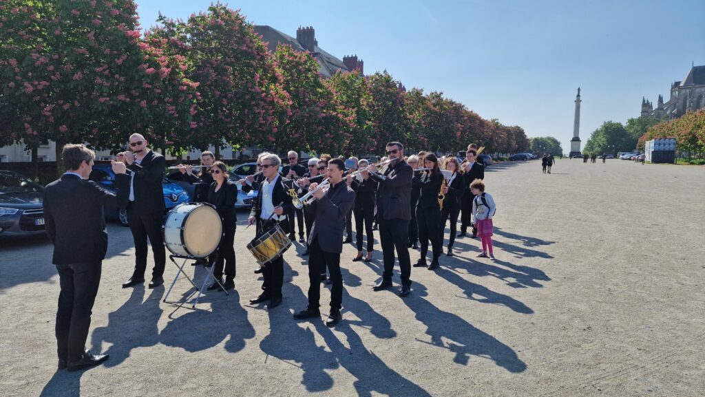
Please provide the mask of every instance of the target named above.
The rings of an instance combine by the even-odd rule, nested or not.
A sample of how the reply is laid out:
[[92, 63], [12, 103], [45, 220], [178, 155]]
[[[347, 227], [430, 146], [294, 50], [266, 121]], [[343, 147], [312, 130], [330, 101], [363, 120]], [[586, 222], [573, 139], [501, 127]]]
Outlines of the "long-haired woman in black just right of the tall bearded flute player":
[[438, 269], [441, 256], [441, 206], [439, 193], [443, 183], [443, 174], [439, 169], [439, 159], [436, 154], [429, 153], [424, 157], [424, 171], [420, 177], [414, 176], [415, 183], [421, 187], [419, 204], [416, 206], [416, 222], [419, 225], [419, 242], [421, 243], [421, 257], [414, 267], [427, 267], [426, 254], [429, 251], [429, 240], [433, 249], [433, 259], [428, 266], [429, 270]]

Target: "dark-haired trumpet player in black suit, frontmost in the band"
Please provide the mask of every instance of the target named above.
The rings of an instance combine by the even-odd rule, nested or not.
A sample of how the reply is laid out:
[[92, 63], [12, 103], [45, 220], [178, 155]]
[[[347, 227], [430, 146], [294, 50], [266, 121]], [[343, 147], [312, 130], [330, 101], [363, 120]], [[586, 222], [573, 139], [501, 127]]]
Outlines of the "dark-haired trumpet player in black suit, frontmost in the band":
[[[328, 163], [329, 189], [313, 193], [317, 199], [316, 220], [309, 236], [309, 291], [308, 306], [294, 314], [295, 319], [320, 317], [319, 300], [321, 298], [321, 282], [319, 274], [321, 264], [328, 265], [331, 272], [331, 314], [326, 320], [327, 326], [338, 324], [341, 320], [343, 304], [343, 276], [341, 275], [341, 252], [343, 240], [341, 233], [345, 216], [355, 203], [355, 192], [343, 181], [345, 163], [341, 159], [332, 159]], [[312, 183], [310, 189], [317, 188]]]

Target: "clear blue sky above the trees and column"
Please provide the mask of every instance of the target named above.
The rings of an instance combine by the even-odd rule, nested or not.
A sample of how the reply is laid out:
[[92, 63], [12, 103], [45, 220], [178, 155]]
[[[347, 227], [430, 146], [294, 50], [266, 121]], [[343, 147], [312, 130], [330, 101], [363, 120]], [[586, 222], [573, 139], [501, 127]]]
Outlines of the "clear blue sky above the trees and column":
[[[211, 1], [136, 0], [143, 28], [159, 11], [188, 18]], [[665, 100], [691, 63], [705, 64], [703, 0], [232, 1], [252, 23], [319, 46], [407, 88], [442, 91], [484, 118], [553, 136], [570, 150], [581, 87], [580, 137], [603, 121], [639, 116], [642, 97]]]

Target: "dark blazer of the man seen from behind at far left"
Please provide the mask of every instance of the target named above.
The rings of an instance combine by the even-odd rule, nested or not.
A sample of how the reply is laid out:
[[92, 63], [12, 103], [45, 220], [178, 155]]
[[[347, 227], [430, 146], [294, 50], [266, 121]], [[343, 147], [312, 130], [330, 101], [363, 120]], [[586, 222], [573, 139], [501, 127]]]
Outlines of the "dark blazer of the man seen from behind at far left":
[[117, 195], [94, 181], [65, 174], [44, 188], [44, 222], [54, 243], [54, 264], [95, 264], [105, 259], [108, 232], [103, 207], [124, 208], [130, 177], [115, 176]]

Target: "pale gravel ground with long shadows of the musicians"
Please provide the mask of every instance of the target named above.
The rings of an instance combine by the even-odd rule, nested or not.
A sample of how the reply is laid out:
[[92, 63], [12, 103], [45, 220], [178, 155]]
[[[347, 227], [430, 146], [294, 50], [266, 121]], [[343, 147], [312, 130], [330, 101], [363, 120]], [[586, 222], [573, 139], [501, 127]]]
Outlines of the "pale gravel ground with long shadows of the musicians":
[[56, 371], [51, 245], [0, 240], [0, 396], [705, 395], [705, 167], [563, 159], [544, 175], [527, 161], [491, 166], [486, 183], [496, 262], [462, 238], [438, 271], [413, 268], [400, 298], [372, 292], [381, 252], [350, 262], [345, 245], [336, 329], [291, 317], [308, 288], [298, 243], [268, 312], [247, 302], [260, 285], [245, 249], [255, 231], [238, 228], [236, 291], [192, 310], [162, 302], [165, 288], [121, 288], [132, 238], [111, 224], [88, 341], [111, 357], [80, 372]]

